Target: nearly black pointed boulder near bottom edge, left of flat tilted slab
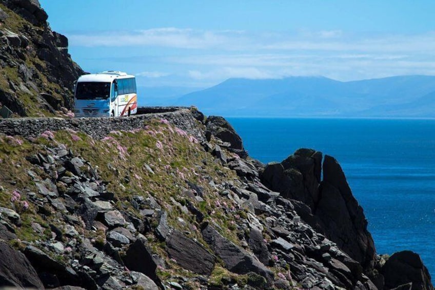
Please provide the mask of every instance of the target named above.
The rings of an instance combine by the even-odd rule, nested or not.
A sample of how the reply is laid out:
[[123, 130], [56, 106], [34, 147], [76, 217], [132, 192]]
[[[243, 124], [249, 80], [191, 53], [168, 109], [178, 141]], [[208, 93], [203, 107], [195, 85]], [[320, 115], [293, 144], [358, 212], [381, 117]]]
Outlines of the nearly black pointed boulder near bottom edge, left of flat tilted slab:
[[157, 263], [154, 261], [151, 249], [145, 240], [137, 239], [129, 246], [124, 256], [124, 264], [129, 270], [141, 272], [151, 278], [157, 285], [161, 284], [155, 274]]

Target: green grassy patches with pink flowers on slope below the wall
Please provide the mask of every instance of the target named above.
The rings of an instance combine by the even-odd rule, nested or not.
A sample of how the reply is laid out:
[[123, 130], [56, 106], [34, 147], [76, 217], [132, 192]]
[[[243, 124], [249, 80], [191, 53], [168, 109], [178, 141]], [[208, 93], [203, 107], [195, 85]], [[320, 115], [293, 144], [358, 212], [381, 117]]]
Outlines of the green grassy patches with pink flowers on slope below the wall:
[[[129, 201], [134, 195], [147, 197], [150, 194], [167, 211], [168, 223], [171, 226], [190, 233], [190, 238], [196, 239], [208, 248], [194, 216], [190, 212], [186, 214], [180, 208], [180, 204], [185, 204], [189, 199], [205, 214], [205, 220], [219, 225], [222, 228], [222, 235], [240, 244], [238, 235], [244, 233], [243, 229], [237, 229], [236, 225], [246, 217], [245, 210], [238, 208], [227, 197], [222, 197], [220, 192], [209, 184], [211, 180], [215, 184], [240, 182], [234, 171], [216, 162], [210, 153], [205, 152], [199, 144], [195, 144], [195, 140], [184, 131], [161, 120], [154, 120], [141, 130], [112, 132], [103, 140], [93, 140], [84, 133], [73, 131], [54, 132], [54, 139], [39, 137], [33, 142], [18, 137], [0, 137], [0, 185], [3, 186], [4, 191], [0, 195], [0, 205], [14, 208], [21, 213], [23, 226], [17, 228], [19, 239], [23, 241], [50, 239], [48, 223], [57, 224], [62, 228], [63, 214], [55, 212], [51, 206], [46, 205], [49, 207], [48, 211], [53, 214], [45, 217], [36, 212], [35, 205], [31, 202], [29, 202], [29, 209], [23, 211], [16, 202], [14, 204], [10, 201], [13, 190], [22, 192], [22, 200], [26, 196], [24, 192], [37, 192], [28, 170], [34, 171], [41, 180], [50, 178], [42, 169], [30, 164], [25, 157], [38, 151], [46, 153], [47, 147], [59, 146], [65, 146], [74, 154], [89, 161], [101, 179], [108, 182], [108, 191], [115, 193], [118, 199], [115, 206], [118, 209], [130, 211], [140, 217], [139, 212]], [[148, 164], [154, 174], [146, 170], [144, 164]], [[196, 202], [183, 194], [183, 190], [188, 188], [186, 180], [204, 187], [203, 202]], [[59, 188], [61, 186], [58, 184]], [[46, 228], [43, 235], [34, 233], [30, 227], [33, 221]], [[104, 233], [100, 231], [87, 231], [80, 227], [76, 230], [84, 237], [94, 238], [100, 243], [104, 242]], [[159, 242], [152, 233], [149, 233], [147, 238], [154, 252], [165, 257], [170, 265], [167, 269], [159, 270], [158, 274], [163, 280], [177, 275], [184, 277], [194, 275], [169, 260], [164, 250], [165, 244]], [[210, 281], [219, 284], [222, 277], [231, 276], [240, 280], [239, 283], [243, 284], [246, 281], [246, 276], [230, 274], [222, 264], [216, 264]]]

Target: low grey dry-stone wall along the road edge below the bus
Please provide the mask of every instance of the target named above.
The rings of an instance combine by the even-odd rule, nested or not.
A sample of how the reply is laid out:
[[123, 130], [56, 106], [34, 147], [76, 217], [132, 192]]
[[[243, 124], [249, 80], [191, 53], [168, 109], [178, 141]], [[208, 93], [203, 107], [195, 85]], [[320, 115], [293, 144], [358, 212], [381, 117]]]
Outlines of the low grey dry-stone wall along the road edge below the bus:
[[[145, 111], [144, 111], [145, 112]], [[35, 138], [44, 131], [72, 129], [82, 131], [94, 139], [102, 139], [111, 131], [126, 131], [144, 127], [151, 119], [165, 119], [180, 129], [192, 134], [197, 140], [204, 141], [201, 123], [194, 119], [192, 112], [183, 107], [149, 107], [147, 113], [120, 118], [13, 118], [0, 119], [0, 133], [9, 136]]]

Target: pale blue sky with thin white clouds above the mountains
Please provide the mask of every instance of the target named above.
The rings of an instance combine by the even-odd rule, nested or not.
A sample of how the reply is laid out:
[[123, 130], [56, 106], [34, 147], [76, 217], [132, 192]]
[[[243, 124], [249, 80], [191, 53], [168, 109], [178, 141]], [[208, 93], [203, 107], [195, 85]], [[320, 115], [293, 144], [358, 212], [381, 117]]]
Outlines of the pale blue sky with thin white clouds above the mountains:
[[435, 2], [39, 0], [87, 72], [148, 87], [435, 74]]

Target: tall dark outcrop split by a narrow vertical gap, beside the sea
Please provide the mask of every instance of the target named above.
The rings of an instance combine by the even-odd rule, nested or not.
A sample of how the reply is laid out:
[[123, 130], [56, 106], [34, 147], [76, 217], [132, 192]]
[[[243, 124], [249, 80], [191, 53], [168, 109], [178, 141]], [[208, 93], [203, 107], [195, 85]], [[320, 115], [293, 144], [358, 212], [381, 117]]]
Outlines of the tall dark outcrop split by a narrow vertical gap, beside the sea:
[[364, 268], [373, 268], [375, 249], [363, 209], [353, 197], [340, 164], [332, 157], [299, 149], [281, 163], [268, 164], [262, 181], [295, 200], [296, 212]]

